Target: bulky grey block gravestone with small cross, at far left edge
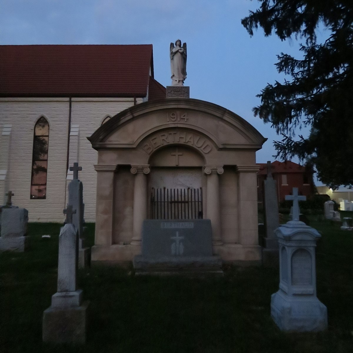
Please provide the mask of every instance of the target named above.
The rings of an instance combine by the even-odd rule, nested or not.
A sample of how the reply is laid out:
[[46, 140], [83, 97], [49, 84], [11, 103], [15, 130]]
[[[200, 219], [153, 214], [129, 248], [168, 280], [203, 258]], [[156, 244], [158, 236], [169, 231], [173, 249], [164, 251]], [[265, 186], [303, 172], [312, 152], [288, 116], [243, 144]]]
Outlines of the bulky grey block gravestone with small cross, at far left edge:
[[12, 206], [12, 191], [7, 193], [6, 205], [1, 207], [0, 251], [24, 252], [29, 247], [27, 236], [28, 211], [25, 208]]

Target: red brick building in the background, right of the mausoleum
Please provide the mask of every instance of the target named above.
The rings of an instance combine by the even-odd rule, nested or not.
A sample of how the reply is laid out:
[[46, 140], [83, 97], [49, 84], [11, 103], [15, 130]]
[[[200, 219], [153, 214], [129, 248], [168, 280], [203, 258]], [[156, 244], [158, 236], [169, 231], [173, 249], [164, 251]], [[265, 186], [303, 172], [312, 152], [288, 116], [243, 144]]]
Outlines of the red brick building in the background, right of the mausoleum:
[[[260, 170], [257, 173], [257, 199], [263, 202], [263, 181], [267, 178], [267, 164], [258, 163]], [[301, 166], [300, 164], [285, 161], [274, 161], [271, 163], [272, 177], [277, 182], [278, 202], [285, 200], [286, 195], [292, 195], [293, 187], [298, 187], [299, 195], [309, 196], [313, 194], [314, 170]]]

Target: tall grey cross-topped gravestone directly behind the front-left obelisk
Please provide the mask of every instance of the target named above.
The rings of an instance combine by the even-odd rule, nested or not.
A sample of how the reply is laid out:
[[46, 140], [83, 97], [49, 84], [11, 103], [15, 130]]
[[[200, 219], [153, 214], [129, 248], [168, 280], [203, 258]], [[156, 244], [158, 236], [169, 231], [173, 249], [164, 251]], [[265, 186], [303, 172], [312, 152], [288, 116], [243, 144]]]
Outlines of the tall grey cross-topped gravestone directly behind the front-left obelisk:
[[73, 171], [73, 180], [68, 185], [68, 204], [76, 209], [76, 213], [72, 215], [72, 224], [78, 231], [78, 266], [83, 268], [89, 265], [90, 248], [85, 247], [83, 237], [83, 185], [82, 181], [78, 179], [78, 171], [82, 170], [82, 167], [79, 167], [78, 163], [75, 162], [70, 170]]

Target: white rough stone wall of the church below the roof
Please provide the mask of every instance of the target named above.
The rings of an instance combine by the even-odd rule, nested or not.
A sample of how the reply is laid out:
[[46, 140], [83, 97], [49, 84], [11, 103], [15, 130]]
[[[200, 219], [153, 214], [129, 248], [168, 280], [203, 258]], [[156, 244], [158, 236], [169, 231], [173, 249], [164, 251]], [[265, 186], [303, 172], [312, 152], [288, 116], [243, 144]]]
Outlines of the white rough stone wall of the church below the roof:
[[[137, 100], [141, 103], [142, 98]], [[133, 98], [72, 98], [69, 162], [82, 166], [79, 179], [84, 185], [85, 221], [95, 221], [97, 152], [86, 137], [107, 115], [132, 106]], [[34, 126], [44, 116], [49, 122], [47, 198], [30, 199]], [[69, 98], [0, 98], [0, 129], [12, 125], [10, 135], [0, 135], [0, 203], [8, 190], [12, 203], [29, 211], [30, 222], [62, 222], [67, 202], [66, 170]], [[68, 180], [66, 180], [68, 178]]]

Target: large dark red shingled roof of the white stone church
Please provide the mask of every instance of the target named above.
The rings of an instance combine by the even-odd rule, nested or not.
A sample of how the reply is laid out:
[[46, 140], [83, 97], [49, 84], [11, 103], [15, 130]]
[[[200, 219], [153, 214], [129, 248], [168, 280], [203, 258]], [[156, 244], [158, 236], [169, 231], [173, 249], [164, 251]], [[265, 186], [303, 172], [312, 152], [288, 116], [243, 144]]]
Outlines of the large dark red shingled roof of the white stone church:
[[0, 46], [1, 97], [145, 97], [152, 44]]

